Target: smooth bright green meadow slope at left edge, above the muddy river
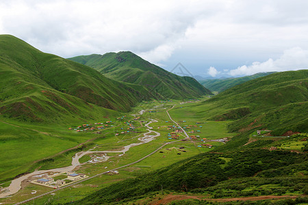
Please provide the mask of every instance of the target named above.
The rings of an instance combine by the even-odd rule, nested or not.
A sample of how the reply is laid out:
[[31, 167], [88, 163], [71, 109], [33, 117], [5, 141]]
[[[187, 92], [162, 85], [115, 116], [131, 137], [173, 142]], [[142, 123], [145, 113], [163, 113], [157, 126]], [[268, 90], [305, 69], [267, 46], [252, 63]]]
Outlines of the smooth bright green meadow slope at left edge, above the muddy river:
[[[68, 132], [64, 126], [62, 126], [63, 131], [58, 131], [59, 127], [57, 126], [53, 132], [50, 132], [49, 126], [46, 127], [46, 130], [40, 126], [36, 128], [38, 131], [33, 131], [27, 125], [24, 127], [22, 123], [18, 123], [20, 127], [3, 122], [0, 124], [1, 182], [42, 166], [43, 164], [38, 164], [41, 159], [49, 159], [50, 156], [94, 138], [93, 135], [78, 135], [71, 131]], [[15, 122], [15, 124], [17, 123]], [[33, 127], [31, 126], [31, 128]], [[70, 158], [68, 161], [62, 158], [61, 165], [69, 165], [71, 156], [68, 158]]]

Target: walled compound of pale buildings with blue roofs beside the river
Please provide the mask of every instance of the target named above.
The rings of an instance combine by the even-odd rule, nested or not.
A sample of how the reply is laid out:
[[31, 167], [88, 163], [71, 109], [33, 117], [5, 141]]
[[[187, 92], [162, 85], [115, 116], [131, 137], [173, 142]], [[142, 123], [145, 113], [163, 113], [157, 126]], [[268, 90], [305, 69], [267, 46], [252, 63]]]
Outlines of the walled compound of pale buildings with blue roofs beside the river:
[[[66, 178], [63, 179], [59, 179], [59, 180], [54, 180], [55, 177], [57, 176], [61, 176], [61, 175], [66, 175]], [[88, 176], [86, 176], [86, 174], [77, 174], [75, 172], [66, 172], [66, 173], [60, 173], [57, 174], [53, 177], [44, 177], [44, 178], [39, 178], [37, 180], [33, 180], [31, 181], [31, 183], [33, 184], [40, 184], [43, 186], [47, 186], [47, 187], [53, 187], [53, 188], [57, 188], [57, 187], [61, 187], [65, 184], [69, 184], [70, 182], [75, 182], [77, 180], [81, 180], [84, 178], [87, 178]]]

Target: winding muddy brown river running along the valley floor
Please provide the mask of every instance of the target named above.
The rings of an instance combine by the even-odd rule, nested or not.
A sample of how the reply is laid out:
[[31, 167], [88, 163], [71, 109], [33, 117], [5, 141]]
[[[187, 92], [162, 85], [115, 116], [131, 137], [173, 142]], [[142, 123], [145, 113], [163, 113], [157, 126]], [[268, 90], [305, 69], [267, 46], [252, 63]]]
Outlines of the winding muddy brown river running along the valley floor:
[[[149, 120], [151, 120], [151, 121], [148, 122], [147, 124], [145, 124], [145, 126], [147, 127], [146, 130], [149, 131], [149, 132], [144, 133], [143, 137], [138, 138], [138, 140], [140, 140], [139, 143], [131, 143], [127, 146], [124, 146], [124, 148], [122, 150], [116, 150], [116, 151], [114, 151], [114, 150], [106, 150], [106, 151], [88, 150], [86, 152], [77, 152], [75, 154], [75, 156], [72, 157], [72, 165], [70, 165], [68, 167], [61, 167], [61, 168], [48, 169], [48, 170], [38, 170], [38, 171], [32, 172], [30, 174], [25, 174], [24, 176], [21, 176], [19, 178], [12, 180], [9, 187], [3, 188], [1, 190], [0, 198], [8, 197], [8, 196], [10, 196], [14, 193], [17, 193], [21, 189], [21, 182], [23, 182], [23, 180], [27, 180], [28, 178], [30, 178], [32, 176], [39, 176], [39, 175], [45, 174], [47, 172], [70, 172], [70, 171], [73, 171], [73, 169], [75, 169], [78, 165], [82, 165], [82, 164], [79, 163], [79, 159], [86, 154], [108, 153], [108, 152], [122, 152], [123, 154], [125, 154], [125, 152], [127, 152], [133, 146], [140, 146], [143, 143], [148, 143], [148, 142], [152, 141], [153, 139], [155, 139], [155, 137], [159, 137], [160, 133], [152, 131], [151, 130], [152, 127], [149, 126], [149, 124], [151, 124], [152, 122], [157, 122], [157, 120], [153, 120], [153, 119], [149, 119]], [[150, 133], [155, 133], [155, 135], [149, 135]], [[119, 156], [122, 156], [123, 154], [120, 154]], [[106, 159], [108, 159], [108, 158], [109, 157], [107, 156]]]

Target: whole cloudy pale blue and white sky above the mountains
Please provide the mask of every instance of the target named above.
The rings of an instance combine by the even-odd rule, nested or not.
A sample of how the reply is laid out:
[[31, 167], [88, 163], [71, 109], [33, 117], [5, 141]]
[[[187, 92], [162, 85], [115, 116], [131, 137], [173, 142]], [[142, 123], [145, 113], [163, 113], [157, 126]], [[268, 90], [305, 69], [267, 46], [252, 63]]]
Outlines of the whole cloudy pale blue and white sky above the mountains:
[[0, 33], [61, 57], [132, 51], [230, 77], [308, 68], [307, 0], [0, 1]]

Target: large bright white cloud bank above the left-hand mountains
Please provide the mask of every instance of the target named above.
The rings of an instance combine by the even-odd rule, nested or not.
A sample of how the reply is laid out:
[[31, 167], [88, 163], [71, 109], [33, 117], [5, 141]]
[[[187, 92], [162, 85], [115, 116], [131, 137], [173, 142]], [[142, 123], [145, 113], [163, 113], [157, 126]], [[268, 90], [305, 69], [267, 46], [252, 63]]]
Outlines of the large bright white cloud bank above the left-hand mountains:
[[[64, 57], [133, 51], [164, 61], [203, 15], [200, 1], [1, 1], [0, 33]], [[208, 10], [210, 10], [209, 7]], [[2, 13], [2, 14], [1, 14]]]

